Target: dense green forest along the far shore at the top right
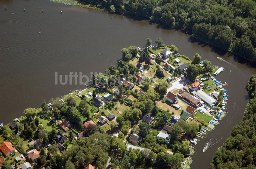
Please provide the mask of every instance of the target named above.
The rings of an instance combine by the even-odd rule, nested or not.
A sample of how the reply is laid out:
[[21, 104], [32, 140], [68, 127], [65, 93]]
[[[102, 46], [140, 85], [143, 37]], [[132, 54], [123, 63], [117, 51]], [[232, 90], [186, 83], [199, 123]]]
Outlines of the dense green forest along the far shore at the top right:
[[150, 19], [256, 62], [255, 0], [80, 0], [110, 12]]

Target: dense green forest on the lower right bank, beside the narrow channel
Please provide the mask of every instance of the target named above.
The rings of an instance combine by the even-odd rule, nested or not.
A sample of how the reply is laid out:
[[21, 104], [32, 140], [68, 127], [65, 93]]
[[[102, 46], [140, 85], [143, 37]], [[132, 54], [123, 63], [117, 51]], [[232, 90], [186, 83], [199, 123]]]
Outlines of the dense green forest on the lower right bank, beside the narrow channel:
[[250, 101], [240, 124], [234, 126], [231, 136], [210, 164], [210, 169], [256, 168], [256, 75], [250, 77], [247, 89]]

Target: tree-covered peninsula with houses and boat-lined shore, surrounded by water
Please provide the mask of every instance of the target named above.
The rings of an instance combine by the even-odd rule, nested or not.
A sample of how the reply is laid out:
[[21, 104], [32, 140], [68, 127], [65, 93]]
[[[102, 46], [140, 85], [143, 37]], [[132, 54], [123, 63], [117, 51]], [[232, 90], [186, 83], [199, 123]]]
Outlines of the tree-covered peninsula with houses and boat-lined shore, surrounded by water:
[[[2, 168], [188, 167], [193, 145], [225, 117], [224, 68], [161, 38], [123, 48], [90, 84], [27, 108], [0, 128]], [[214, 75], [215, 74], [215, 75]]]

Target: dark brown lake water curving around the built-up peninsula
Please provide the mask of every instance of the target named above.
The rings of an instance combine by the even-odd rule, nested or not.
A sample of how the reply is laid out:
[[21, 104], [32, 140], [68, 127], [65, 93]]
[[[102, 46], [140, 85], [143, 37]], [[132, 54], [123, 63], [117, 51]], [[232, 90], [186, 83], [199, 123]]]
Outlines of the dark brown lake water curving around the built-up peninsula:
[[[174, 44], [190, 59], [199, 53], [202, 60], [223, 66], [225, 71], [217, 79], [229, 85], [228, 115], [194, 146], [196, 154], [191, 168], [207, 168], [214, 152], [241, 121], [248, 102], [246, 84], [256, 73], [243, 59], [199, 42], [185, 31], [166, 30], [144, 20], [79, 6], [47, 0], [1, 0], [0, 25], [0, 122], [4, 124], [23, 115], [27, 107], [39, 107], [44, 99], [48, 101], [85, 88], [84, 85], [55, 85], [55, 72], [58, 75], [103, 72], [121, 58], [122, 48], [143, 47], [148, 37], [153, 41], [161, 37], [164, 44]], [[39, 31], [42, 33], [38, 34]], [[202, 152], [210, 139], [213, 146]]]

